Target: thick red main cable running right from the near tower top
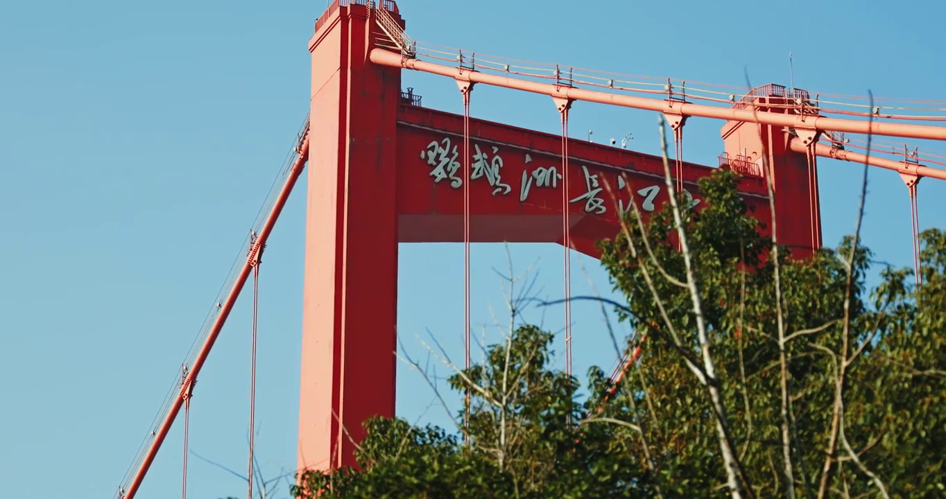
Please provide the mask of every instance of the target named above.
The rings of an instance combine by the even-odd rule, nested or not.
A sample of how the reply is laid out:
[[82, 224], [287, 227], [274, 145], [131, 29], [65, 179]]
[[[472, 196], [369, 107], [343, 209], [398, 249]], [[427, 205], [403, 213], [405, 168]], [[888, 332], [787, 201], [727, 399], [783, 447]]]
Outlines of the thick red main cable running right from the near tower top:
[[667, 102], [647, 97], [633, 95], [609, 94], [607, 92], [586, 90], [573, 87], [562, 87], [549, 83], [539, 83], [516, 77], [501, 77], [479, 71], [469, 71], [457, 67], [445, 66], [404, 57], [383, 48], [371, 51], [371, 61], [382, 65], [397, 68], [413, 69], [444, 77], [453, 77], [474, 83], [484, 83], [509, 89], [532, 92], [534, 94], [552, 95], [553, 97], [570, 100], [585, 100], [600, 104], [611, 104], [625, 108], [634, 108], [646, 111], [671, 112], [684, 116], [698, 116], [722, 120], [742, 121], [745, 123], [760, 123], [776, 127], [795, 127], [798, 129], [818, 129], [842, 131], [849, 133], [872, 133], [890, 137], [911, 137], [916, 139], [946, 140], [946, 127], [932, 127], [928, 125], [904, 125], [900, 123], [878, 123], [857, 121], [824, 116], [800, 116], [796, 114], [782, 114], [779, 112], [753, 112], [752, 110], [737, 110], [720, 108], [700, 104], [684, 104]]

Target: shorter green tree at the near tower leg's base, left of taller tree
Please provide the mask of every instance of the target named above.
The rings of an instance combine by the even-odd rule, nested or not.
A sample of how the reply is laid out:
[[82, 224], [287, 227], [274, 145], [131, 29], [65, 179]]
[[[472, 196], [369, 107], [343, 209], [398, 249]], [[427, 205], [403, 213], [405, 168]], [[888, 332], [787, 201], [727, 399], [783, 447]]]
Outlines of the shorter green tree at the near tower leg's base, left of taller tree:
[[[639, 475], [629, 442], [605, 424], [576, 430], [600, 398], [575, 402], [576, 381], [547, 365], [551, 342], [550, 333], [519, 327], [489, 348], [485, 364], [450, 378], [458, 390], [474, 387], [469, 447], [439, 428], [375, 419], [357, 451], [366, 472], [307, 473], [296, 496], [628, 496]], [[593, 380], [604, 386], [600, 371]]]

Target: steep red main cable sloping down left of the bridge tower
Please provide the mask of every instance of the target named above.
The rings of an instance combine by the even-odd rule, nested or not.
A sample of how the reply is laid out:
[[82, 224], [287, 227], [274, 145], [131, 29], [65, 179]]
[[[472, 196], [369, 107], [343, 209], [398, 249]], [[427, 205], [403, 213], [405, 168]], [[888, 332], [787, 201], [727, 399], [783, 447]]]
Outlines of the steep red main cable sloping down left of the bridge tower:
[[[184, 387], [192, 384], [194, 380], [197, 379], [198, 374], [201, 373], [203, 363], [207, 360], [210, 350], [214, 348], [214, 342], [217, 341], [217, 336], [219, 336], [220, 330], [223, 329], [223, 324], [227, 321], [227, 317], [230, 316], [230, 312], [233, 310], [234, 304], [236, 304], [236, 299], [239, 297], [240, 291], [243, 290], [243, 285], [246, 284], [247, 277], [250, 276], [250, 271], [253, 270], [256, 253], [259, 249], [263, 248], [263, 245], [266, 244], [266, 240], [269, 239], [272, 233], [272, 227], [276, 224], [276, 219], [279, 218], [283, 207], [286, 206], [286, 201], [289, 199], [292, 187], [295, 186], [296, 181], [299, 180], [299, 176], [306, 167], [308, 157], [308, 129], [304, 132], [302, 144], [297, 150], [299, 151], [299, 156], [296, 158], [295, 163], [292, 163], [291, 169], [289, 169], [289, 177], [286, 178], [282, 190], [279, 191], [279, 195], [276, 197], [275, 201], [273, 201], [270, 214], [267, 215], [266, 221], [263, 222], [263, 226], [260, 228], [259, 234], [254, 244], [251, 246], [246, 262], [243, 263], [243, 268], [240, 269], [239, 274], [236, 276], [236, 282], [233, 287], [230, 288], [230, 293], [227, 295], [226, 300], [223, 301], [217, 320], [214, 321], [214, 325], [210, 328], [210, 333], [203, 341], [203, 345], [201, 345], [201, 351], [197, 354], [197, 358], [194, 359], [194, 365], [190, 366], [187, 377], [184, 379]], [[158, 428], [154, 440], [151, 441], [148, 453], [138, 466], [138, 471], [134, 473], [128, 490], [125, 490], [125, 495], [122, 496], [124, 499], [133, 498], [135, 492], [141, 487], [141, 482], [145, 479], [145, 474], [148, 473], [151, 463], [154, 461], [154, 457], [158, 455], [158, 450], [165, 441], [167, 432], [170, 431], [183, 404], [184, 398], [182, 398], [182, 391], [178, 391], [178, 395], [175, 397], [170, 409], [168, 409], [164, 421], [161, 422], [161, 426]]]

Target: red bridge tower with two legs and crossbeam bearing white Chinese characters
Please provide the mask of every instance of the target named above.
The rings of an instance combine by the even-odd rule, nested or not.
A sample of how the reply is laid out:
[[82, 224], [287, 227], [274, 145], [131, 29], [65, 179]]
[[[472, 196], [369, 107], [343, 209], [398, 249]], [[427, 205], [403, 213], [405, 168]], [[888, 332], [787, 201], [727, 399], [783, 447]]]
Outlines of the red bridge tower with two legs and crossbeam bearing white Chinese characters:
[[[394, 2], [364, 4], [337, 0], [309, 42], [300, 468], [353, 464], [352, 441], [363, 436], [361, 422], [394, 416], [397, 244], [464, 241], [464, 183], [470, 189], [472, 241], [554, 242], [590, 255], [596, 240], [618, 232], [617, 211], [627, 206], [628, 188], [643, 213], [667, 198], [655, 156], [563, 143], [561, 136], [482, 120], [469, 121], [467, 144], [463, 115], [420, 107], [419, 99], [401, 92], [401, 68], [372, 62], [378, 50], [392, 49], [392, 31], [403, 30], [404, 22]], [[380, 56], [402, 57], [397, 49]], [[456, 73], [467, 92], [469, 73]], [[798, 113], [803, 105], [779, 104], [803, 99], [803, 92], [768, 85], [736, 106], [752, 100], [760, 111]], [[567, 109], [570, 102], [564, 104]], [[671, 125], [683, 126], [682, 115], [665, 113]], [[797, 255], [811, 254], [820, 246], [815, 157], [795, 144], [813, 144], [815, 132], [730, 121], [722, 135], [726, 152], [720, 165], [745, 175], [740, 189], [755, 215], [770, 225], [762, 167], [767, 163], [780, 243], [795, 247]], [[682, 162], [679, 167], [690, 205], [698, 206], [696, 181], [713, 168]], [[620, 206], [605, 182], [620, 188]]]

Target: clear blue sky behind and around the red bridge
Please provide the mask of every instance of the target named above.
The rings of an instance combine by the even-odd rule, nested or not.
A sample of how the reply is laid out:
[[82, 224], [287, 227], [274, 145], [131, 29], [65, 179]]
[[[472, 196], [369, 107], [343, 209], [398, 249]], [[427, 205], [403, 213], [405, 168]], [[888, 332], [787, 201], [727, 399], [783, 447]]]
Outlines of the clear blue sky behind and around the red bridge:
[[[521, 60], [813, 92], [943, 98], [937, 2], [838, 0], [817, 9], [755, 1], [458, 3], [403, 0], [421, 41]], [[579, 8], [584, 5], [587, 7]], [[7, 2], [0, 7], [0, 483], [9, 497], [111, 497], [214, 303], [239, 244], [307, 112], [307, 40], [324, 1]], [[908, 19], [909, 21], [905, 21]], [[904, 20], [895, 23], [895, 20]], [[425, 106], [459, 111], [453, 82], [406, 74]], [[556, 131], [548, 97], [474, 94], [476, 117]], [[692, 120], [686, 158], [712, 164], [720, 122]], [[571, 133], [657, 152], [656, 116], [587, 104]], [[940, 150], [946, 146], [938, 145]], [[821, 161], [826, 244], [852, 230], [860, 169]], [[295, 464], [305, 183], [290, 199], [262, 269], [258, 456]], [[920, 184], [920, 224], [946, 213], [944, 182]], [[940, 225], [941, 226], [941, 225]], [[866, 244], [911, 266], [909, 205], [896, 173], [870, 175]], [[401, 248], [399, 323], [409, 353], [429, 330], [460, 355], [460, 245]], [[513, 247], [561, 296], [561, 249]], [[474, 248], [477, 330], [501, 318], [502, 245]], [[573, 259], [574, 293], [610, 289]], [[615, 360], [594, 305], [574, 307], [575, 371]], [[237, 309], [201, 375], [191, 448], [244, 473], [250, 307]], [[532, 318], [540, 318], [533, 311]], [[558, 329], [560, 309], [546, 311]], [[626, 330], [622, 330], [626, 333]], [[498, 333], [489, 333], [490, 341]], [[559, 363], [563, 360], [559, 358]], [[443, 369], [438, 374], [443, 375]], [[446, 422], [402, 366], [399, 415]], [[451, 399], [454, 401], [454, 399]], [[454, 408], [458, 407], [454, 405]], [[190, 460], [193, 497], [241, 495], [232, 475]], [[180, 490], [180, 424], [138, 495]], [[285, 487], [282, 492], [286, 492]]]

